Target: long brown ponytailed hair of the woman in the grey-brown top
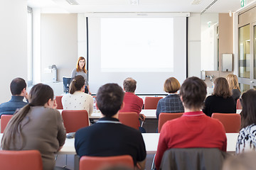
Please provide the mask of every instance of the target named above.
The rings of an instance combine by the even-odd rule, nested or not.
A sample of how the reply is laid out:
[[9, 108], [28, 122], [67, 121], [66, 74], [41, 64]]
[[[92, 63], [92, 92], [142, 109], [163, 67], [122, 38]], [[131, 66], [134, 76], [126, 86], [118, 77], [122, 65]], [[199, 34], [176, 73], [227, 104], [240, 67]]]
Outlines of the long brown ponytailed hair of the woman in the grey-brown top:
[[[44, 106], [49, 99], [53, 100], [53, 89], [46, 84], [36, 84], [32, 87], [30, 91], [30, 103], [21, 108], [17, 113], [14, 113], [14, 116], [9, 121], [6, 129], [4, 130], [4, 135], [1, 140], [1, 148], [5, 150], [9, 149], [22, 149], [25, 145], [26, 140], [23, 137], [22, 128], [25, 124], [21, 126], [21, 121], [26, 118], [29, 110], [33, 106]], [[30, 120], [27, 121], [27, 123]], [[15, 137], [21, 137], [21, 146], [20, 148], [15, 148], [16, 139]]]

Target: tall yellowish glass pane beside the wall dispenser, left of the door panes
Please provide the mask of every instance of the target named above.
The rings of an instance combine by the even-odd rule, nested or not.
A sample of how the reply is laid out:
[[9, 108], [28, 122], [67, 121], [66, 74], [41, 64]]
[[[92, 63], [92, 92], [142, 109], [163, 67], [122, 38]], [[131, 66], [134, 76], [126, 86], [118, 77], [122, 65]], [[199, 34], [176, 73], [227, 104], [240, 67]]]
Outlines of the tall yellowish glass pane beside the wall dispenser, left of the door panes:
[[250, 78], [250, 24], [238, 30], [239, 70], [238, 76]]

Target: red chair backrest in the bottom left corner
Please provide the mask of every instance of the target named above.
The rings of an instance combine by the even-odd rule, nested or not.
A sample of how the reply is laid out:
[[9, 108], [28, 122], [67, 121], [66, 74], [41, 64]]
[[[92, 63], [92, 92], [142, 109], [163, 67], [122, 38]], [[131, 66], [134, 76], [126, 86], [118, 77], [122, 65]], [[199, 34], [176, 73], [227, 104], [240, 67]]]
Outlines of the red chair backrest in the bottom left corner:
[[41, 154], [38, 150], [0, 150], [0, 169], [42, 170]]

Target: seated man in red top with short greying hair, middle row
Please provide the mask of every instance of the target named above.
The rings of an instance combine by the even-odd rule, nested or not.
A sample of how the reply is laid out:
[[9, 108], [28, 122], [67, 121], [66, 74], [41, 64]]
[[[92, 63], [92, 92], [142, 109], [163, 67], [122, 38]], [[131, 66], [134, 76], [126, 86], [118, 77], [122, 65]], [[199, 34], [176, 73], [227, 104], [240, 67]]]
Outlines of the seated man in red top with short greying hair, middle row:
[[134, 94], [136, 85], [137, 81], [131, 77], [124, 80], [124, 107], [120, 112], [136, 112], [141, 120], [145, 120], [145, 115], [140, 113], [142, 111], [143, 100]]

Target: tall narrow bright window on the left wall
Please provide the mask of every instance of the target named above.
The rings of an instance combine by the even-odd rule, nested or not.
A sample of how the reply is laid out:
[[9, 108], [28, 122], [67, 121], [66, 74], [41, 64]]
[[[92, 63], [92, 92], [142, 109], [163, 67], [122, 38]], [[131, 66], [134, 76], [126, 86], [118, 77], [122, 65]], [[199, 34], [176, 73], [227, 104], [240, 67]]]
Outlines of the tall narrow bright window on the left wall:
[[28, 85], [31, 85], [33, 83], [33, 74], [32, 74], [32, 66], [33, 66], [33, 48], [32, 48], [32, 33], [33, 33], [33, 29], [32, 29], [32, 8], [28, 7], [28, 13], [27, 13], [27, 45], [28, 45], [28, 79], [27, 79], [27, 83]]

